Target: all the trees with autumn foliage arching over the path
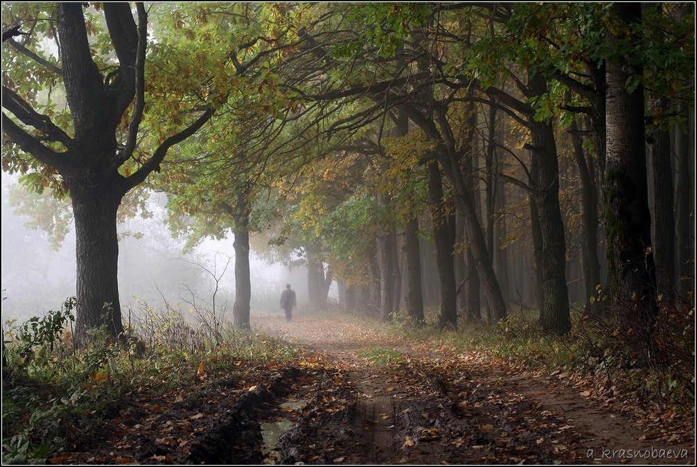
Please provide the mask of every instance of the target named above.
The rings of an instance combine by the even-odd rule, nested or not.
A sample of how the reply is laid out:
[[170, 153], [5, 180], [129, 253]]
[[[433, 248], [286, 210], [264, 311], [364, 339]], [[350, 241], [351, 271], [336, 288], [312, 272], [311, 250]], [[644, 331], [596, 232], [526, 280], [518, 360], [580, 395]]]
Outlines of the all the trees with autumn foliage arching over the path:
[[116, 210], [144, 183], [192, 245], [233, 232], [238, 327], [250, 232], [300, 254], [317, 305], [339, 280], [385, 320], [404, 295], [423, 321], [424, 238], [443, 327], [504, 318], [517, 280], [565, 334], [579, 269], [588, 312], [600, 287], [636, 304], [634, 335], [694, 289], [694, 6], [152, 9], [3, 5], [28, 31], [3, 37], [3, 167], [72, 201], [78, 330], [123, 330]]

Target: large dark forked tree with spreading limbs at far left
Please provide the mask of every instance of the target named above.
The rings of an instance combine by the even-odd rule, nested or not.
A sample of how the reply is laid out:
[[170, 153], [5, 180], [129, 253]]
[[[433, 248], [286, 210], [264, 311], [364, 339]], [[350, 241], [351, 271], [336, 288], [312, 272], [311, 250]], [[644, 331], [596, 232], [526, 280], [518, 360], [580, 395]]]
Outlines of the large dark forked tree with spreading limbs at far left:
[[[33, 93], [36, 89], [22, 86], [22, 68], [9, 66], [10, 79], [3, 84], [3, 109], [13, 117], [3, 112], [3, 133], [33, 157], [33, 171], [47, 177], [59, 176], [70, 194], [77, 236], [76, 334], [82, 339], [86, 330], [102, 325], [114, 336], [123, 332], [116, 237], [116, 211], [121, 200], [151, 172], [160, 169], [171, 146], [190, 137], [213, 115], [213, 108], [205, 107], [183, 130], [162, 138], [149, 158], [136, 155], [139, 164], [135, 171], [121, 169], [135, 160], [145, 109], [147, 13], [143, 4], [137, 3], [136, 26], [127, 3], [105, 3], [103, 8], [108, 33], [86, 21], [81, 3], [48, 7], [45, 13], [51, 29], [35, 29], [38, 37], [32, 40], [40, 43], [40, 38], [54, 29], [60, 45], [59, 64], [36, 59], [24, 49], [10, 51], [13, 56], [31, 57], [36, 62], [32, 68], [47, 68], [49, 75], [43, 73], [47, 82], [61, 82], [69, 118], [56, 118], [56, 123], [36, 110], [40, 108]], [[17, 15], [20, 13], [31, 15], [36, 11], [18, 9]], [[38, 22], [31, 17], [24, 19]], [[103, 54], [95, 61], [89, 40], [94, 29], [100, 44], [111, 41], [113, 49], [109, 52], [114, 55]], [[14, 59], [13, 63], [20, 61]], [[127, 131], [122, 130], [124, 126]], [[29, 170], [20, 151], [6, 157], [12, 158], [9, 164], [13, 169]]]

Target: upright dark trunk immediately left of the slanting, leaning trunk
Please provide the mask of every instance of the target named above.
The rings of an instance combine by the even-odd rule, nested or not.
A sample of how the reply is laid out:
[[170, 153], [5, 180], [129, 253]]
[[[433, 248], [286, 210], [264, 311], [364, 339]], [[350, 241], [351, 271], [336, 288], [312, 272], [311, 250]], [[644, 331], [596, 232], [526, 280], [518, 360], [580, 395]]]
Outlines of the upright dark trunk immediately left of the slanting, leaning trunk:
[[431, 204], [431, 220], [433, 222], [434, 240], [436, 243], [436, 259], [438, 261], [438, 278], [441, 280], [441, 314], [439, 316], [442, 328], [457, 329], [457, 286], [452, 258], [454, 234], [448, 227], [445, 201], [443, 200], [443, 185], [438, 162], [427, 163], [427, 181], [429, 187], [429, 202]]

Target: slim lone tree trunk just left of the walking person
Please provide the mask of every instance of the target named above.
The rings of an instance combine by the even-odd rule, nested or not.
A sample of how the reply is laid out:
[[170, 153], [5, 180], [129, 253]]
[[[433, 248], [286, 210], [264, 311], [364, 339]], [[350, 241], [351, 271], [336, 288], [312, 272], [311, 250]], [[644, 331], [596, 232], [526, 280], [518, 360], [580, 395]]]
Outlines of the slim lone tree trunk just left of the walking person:
[[233, 326], [237, 329], [250, 328], [250, 300], [252, 282], [250, 280], [250, 231], [249, 219], [240, 218], [235, 222], [235, 305], [232, 308]]

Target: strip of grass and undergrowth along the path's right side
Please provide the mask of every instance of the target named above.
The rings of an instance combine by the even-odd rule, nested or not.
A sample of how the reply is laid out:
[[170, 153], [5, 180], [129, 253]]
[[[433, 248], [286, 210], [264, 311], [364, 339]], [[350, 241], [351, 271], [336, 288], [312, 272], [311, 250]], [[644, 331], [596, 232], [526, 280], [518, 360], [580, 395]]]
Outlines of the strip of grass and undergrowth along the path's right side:
[[[537, 310], [511, 310], [506, 319], [489, 325], [459, 321], [459, 330], [438, 328], [438, 310], [428, 309], [422, 326], [397, 314], [393, 332], [409, 339], [450, 346], [457, 351], [484, 351], [527, 369], [567, 375], [594, 385], [597, 393], [624, 394], [645, 403], [694, 413], [694, 308], [675, 303], [665, 307], [654, 324], [648, 363], [643, 348], [623, 339], [616, 319], [572, 309], [572, 331], [560, 337], [542, 331]], [[678, 311], [679, 310], [679, 311]]]

